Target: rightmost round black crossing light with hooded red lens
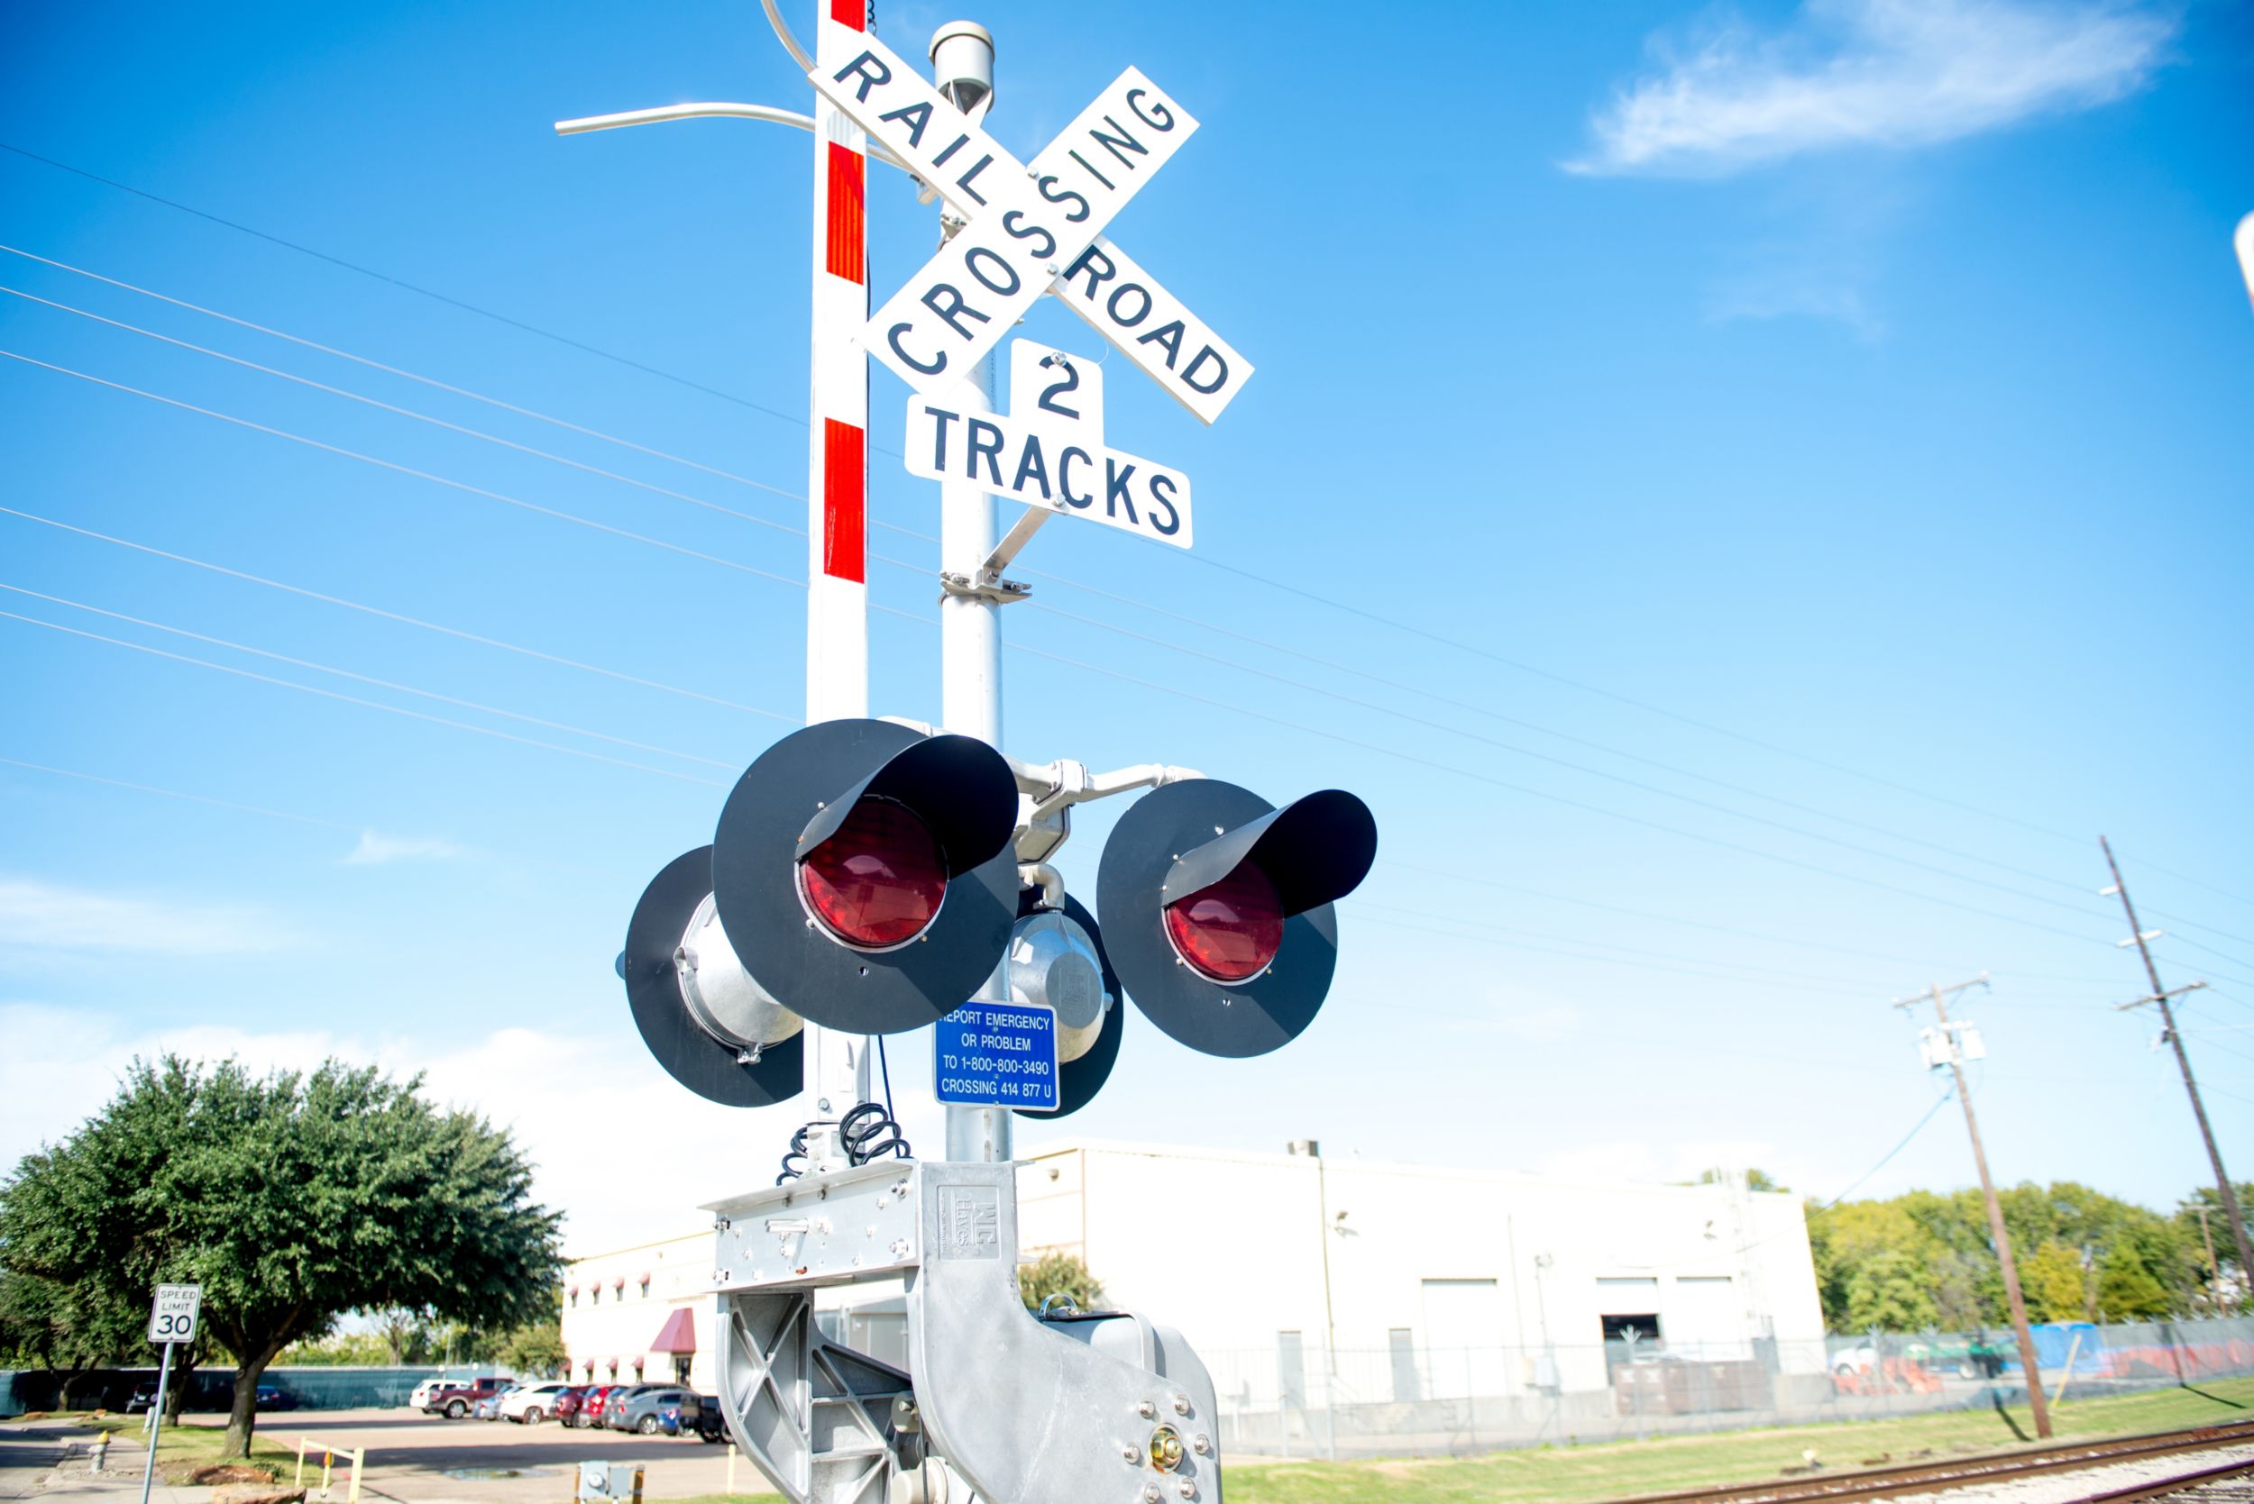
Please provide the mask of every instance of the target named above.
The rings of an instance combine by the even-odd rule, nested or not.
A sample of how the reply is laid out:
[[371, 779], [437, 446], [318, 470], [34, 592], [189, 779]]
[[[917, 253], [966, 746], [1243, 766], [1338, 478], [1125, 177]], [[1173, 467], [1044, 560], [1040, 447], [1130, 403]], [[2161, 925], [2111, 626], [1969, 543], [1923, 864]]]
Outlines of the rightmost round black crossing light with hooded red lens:
[[1377, 820], [1328, 788], [1276, 808], [1186, 779], [1120, 815], [1095, 876], [1104, 950], [1159, 1029], [1258, 1056], [1314, 1022], [1339, 961], [1337, 898], [1377, 860]]

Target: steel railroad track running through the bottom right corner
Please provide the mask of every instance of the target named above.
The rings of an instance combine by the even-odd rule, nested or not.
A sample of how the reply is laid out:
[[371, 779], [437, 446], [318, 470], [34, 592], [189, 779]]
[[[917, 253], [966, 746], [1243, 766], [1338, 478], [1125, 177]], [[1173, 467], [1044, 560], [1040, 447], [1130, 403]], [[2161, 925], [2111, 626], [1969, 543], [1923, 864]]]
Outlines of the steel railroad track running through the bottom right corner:
[[[2110, 1436], [2105, 1441], [2065, 1441], [2017, 1452], [1981, 1452], [1975, 1457], [1947, 1457], [1934, 1461], [1896, 1463], [1891, 1468], [1855, 1468], [1846, 1472], [1810, 1472], [1781, 1477], [1760, 1484], [1724, 1484], [1720, 1488], [1681, 1488], [1675, 1493], [1641, 1493], [1614, 1504], [1801, 1504], [1830, 1499], [1893, 1499], [1911, 1493], [1941, 1493], [1947, 1488], [1972, 1488], [1979, 1484], [2002, 1484], [2047, 1472], [2078, 1472], [2083, 1468], [2105, 1468], [2121, 1461], [2146, 1461], [2180, 1452], [2209, 1452], [2227, 1445], [2254, 1445], [2254, 1421], [2229, 1425], [2198, 1425], [2180, 1432], [2153, 1432], [2144, 1436]], [[2114, 1493], [2092, 1495], [2076, 1504], [2135, 1504], [2182, 1493], [2198, 1504], [2254, 1504], [2254, 1486], [2231, 1484], [2254, 1472], [2254, 1461], [2236, 1461], [2222, 1468], [2204, 1468], [2171, 1479], [2139, 1481]], [[2186, 1493], [2213, 1488], [2218, 1493]], [[2238, 1488], [2238, 1490], [2234, 1490]]]

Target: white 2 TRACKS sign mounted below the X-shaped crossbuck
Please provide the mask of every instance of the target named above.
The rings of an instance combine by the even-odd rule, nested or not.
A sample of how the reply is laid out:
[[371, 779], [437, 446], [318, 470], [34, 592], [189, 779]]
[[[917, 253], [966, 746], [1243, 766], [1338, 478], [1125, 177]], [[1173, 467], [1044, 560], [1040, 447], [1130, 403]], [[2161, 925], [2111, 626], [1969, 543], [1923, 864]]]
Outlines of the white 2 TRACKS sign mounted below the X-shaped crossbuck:
[[908, 473], [1190, 547], [1190, 477], [1104, 448], [1102, 367], [1010, 342], [1010, 414], [908, 399]]

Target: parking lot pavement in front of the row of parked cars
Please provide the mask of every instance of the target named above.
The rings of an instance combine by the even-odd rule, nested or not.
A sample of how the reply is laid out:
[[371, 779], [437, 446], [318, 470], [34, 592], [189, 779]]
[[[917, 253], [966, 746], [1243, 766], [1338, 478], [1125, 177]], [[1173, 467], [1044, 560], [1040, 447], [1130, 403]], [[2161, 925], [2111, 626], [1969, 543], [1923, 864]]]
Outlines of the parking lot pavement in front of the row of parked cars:
[[[582, 1461], [624, 1461], [642, 1468], [645, 1499], [685, 1499], [728, 1488], [728, 1448], [694, 1436], [636, 1436], [609, 1430], [564, 1430], [512, 1421], [440, 1421], [417, 1409], [298, 1409], [259, 1416], [259, 1436], [291, 1450], [365, 1448], [361, 1490], [403, 1504], [564, 1504], [573, 1497]], [[735, 1488], [769, 1493], [766, 1479], [735, 1461]], [[343, 1463], [331, 1497], [345, 1497]]]

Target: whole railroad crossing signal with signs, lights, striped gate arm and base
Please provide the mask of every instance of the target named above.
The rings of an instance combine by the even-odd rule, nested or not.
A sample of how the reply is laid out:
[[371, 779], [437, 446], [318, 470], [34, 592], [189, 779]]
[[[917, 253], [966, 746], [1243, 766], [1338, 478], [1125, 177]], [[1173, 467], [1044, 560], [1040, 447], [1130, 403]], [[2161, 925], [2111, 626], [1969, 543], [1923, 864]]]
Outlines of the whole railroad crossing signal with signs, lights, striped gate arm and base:
[[[809, 128], [814, 340], [807, 727], [744, 772], [712, 842], [642, 892], [618, 970], [642, 1042], [730, 1105], [807, 1092], [771, 1189], [715, 1202], [719, 1398], [791, 1504], [1219, 1497], [1213, 1382], [1181, 1333], [1019, 1297], [1017, 1114], [1107, 1081], [1125, 997], [1168, 1036], [1258, 1056], [1314, 1020], [1337, 966], [1332, 903], [1377, 856], [1355, 795], [1285, 806], [1186, 768], [1091, 772], [999, 750], [1003, 570], [1050, 516], [1190, 547], [1190, 482], [1107, 444], [1093, 360], [1014, 340], [1055, 295], [1210, 423], [1251, 365], [1102, 232], [1197, 131], [1125, 70], [1019, 162], [983, 122], [994, 38], [951, 23], [933, 79], [825, 0], [814, 115], [692, 104], [561, 133], [737, 117]], [[938, 254], [875, 317], [866, 162], [942, 200]], [[868, 356], [911, 387], [906, 466], [940, 482], [944, 727], [868, 716]], [[1023, 502], [1008, 531], [996, 498]], [[996, 536], [1001, 534], [1001, 536]], [[1102, 851], [1095, 914], [1050, 858], [1075, 804], [1145, 793]], [[870, 1099], [872, 1036], [933, 1029], [944, 1160], [917, 1162]], [[1199, 1207], [1170, 1209], [1195, 1225]], [[816, 1297], [906, 1286], [906, 1362], [834, 1340]]]

